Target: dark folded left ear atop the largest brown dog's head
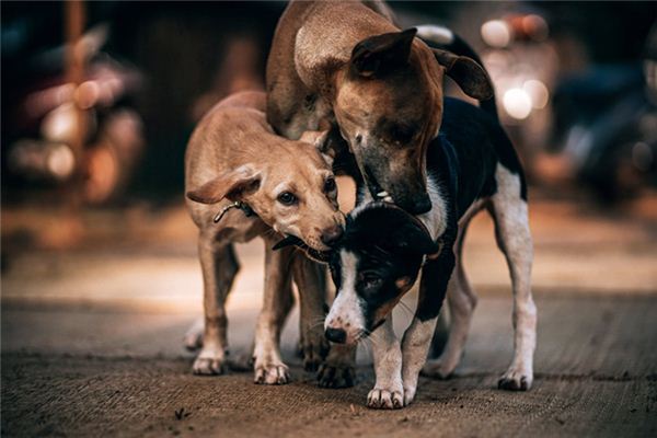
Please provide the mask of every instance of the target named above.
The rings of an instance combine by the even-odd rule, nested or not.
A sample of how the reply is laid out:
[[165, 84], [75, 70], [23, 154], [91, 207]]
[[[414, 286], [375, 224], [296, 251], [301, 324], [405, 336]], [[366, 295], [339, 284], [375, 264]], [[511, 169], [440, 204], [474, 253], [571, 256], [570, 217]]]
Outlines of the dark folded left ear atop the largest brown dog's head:
[[406, 65], [416, 33], [417, 30], [412, 27], [362, 39], [351, 51], [353, 71], [370, 78]]

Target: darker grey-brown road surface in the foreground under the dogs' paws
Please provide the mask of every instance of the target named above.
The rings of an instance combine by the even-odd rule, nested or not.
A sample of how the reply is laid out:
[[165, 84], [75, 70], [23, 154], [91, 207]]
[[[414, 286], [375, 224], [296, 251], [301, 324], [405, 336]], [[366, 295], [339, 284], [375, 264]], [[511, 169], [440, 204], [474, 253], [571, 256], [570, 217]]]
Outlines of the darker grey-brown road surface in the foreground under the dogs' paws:
[[[540, 296], [537, 381], [528, 393], [495, 383], [511, 354], [506, 297], [481, 300], [463, 365], [423, 379], [402, 411], [364, 406], [373, 377], [322, 390], [291, 354], [293, 382], [265, 388], [251, 373], [189, 373], [178, 343], [193, 318], [122, 311], [2, 309], [4, 436], [656, 436], [657, 300]], [[403, 316], [403, 315], [402, 315]], [[254, 312], [232, 319], [244, 350]], [[25, 327], [30, 327], [26, 331]], [[243, 330], [242, 330], [243, 328]], [[177, 412], [177, 414], [176, 414]]]

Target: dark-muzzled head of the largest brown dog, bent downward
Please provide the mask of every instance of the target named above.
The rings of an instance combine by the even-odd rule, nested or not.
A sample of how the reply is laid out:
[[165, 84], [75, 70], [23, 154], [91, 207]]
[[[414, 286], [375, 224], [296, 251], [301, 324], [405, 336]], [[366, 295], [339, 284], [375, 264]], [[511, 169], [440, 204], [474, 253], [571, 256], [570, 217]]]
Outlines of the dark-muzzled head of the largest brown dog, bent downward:
[[390, 197], [417, 215], [431, 208], [426, 149], [442, 119], [443, 73], [475, 99], [489, 99], [493, 89], [474, 60], [431, 50], [415, 33], [358, 43], [348, 68], [338, 73], [334, 112], [372, 197]]

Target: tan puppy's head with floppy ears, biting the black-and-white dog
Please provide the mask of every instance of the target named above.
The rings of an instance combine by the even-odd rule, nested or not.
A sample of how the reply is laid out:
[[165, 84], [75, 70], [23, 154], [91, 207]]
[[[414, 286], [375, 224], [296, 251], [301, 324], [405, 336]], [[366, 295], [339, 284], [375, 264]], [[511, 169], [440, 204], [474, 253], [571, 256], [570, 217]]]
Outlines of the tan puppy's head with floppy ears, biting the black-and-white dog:
[[331, 158], [322, 153], [326, 134], [307, 132], [300, 141], [277, 139], [263, 157], [230, 170], [187, 197], [201, 204], [243, 201], [269, 227], [326, 251], [344, 230]]

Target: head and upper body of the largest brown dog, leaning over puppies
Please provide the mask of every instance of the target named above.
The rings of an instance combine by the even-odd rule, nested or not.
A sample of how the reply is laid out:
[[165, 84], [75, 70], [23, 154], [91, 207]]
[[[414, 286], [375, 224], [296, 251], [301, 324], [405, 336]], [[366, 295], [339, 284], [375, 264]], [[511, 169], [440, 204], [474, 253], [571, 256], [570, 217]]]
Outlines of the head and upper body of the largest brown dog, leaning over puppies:
[[267, 119], [291, 139], [336, 123], [370, 195], [418, 215], [431, 208], [426, 149], [440, 127], [443, 73], [477, 100], [493, 89], [475, 61], [415, 34], [380, 1], [291, 1], [267, 61]]

